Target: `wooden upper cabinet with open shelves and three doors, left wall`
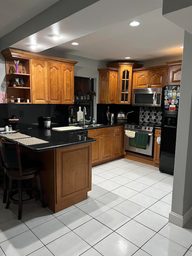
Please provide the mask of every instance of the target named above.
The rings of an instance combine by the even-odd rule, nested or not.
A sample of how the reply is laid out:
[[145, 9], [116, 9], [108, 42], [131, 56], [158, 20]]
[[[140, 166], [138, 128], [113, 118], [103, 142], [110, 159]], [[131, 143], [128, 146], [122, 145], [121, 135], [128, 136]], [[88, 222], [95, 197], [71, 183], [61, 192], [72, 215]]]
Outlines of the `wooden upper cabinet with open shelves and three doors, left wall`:
[[[10, 64], [14, 65], [13, 60], [19, 59], [19, 76], [23, 77], [25, 87], [14, 88], [14, 96], [25, 100], [21, 104], [74, 103], [74, 65], [77, 63], [76, 61], [10, 48], [1, 53], [6, 59], [6, 73], [10, 70]], [[22, 66], [25, 66], [27, 74], [21, 74]], [[7, 74], [8, 82], [15, 80], [15, 77], [18, 77], [18, 73]], [[12, 88], [9, 89], [8, 95], [13, 95], [11, 90]], [[26, 99], [29, 99], [29, 103], [26, 102]]]

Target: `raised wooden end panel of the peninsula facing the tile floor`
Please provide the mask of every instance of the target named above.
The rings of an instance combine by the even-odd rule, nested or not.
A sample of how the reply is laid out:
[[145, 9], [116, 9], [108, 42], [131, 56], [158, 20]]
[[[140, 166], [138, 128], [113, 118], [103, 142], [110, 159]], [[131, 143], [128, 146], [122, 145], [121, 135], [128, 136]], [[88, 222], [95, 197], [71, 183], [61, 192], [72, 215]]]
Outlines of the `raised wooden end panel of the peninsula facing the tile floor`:
[[91, 190], [90, 154], [88, 143], [56, 149], [57, 204]]

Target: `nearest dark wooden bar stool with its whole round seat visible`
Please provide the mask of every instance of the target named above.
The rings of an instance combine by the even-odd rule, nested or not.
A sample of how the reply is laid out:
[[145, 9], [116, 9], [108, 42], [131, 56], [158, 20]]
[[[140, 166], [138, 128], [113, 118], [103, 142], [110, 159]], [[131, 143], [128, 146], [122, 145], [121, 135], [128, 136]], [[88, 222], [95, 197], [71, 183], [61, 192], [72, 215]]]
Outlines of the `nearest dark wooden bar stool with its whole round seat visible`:
[[[39, 199], [43, 207], [46, 204], [43, 199], [40, 182], [40, 166], [33, 160], [27, 159], [27, 157], [21, 158], [19, 152], [19, 143], [8, 143], [4, 138], [0, 138], [0, 149], [2, 164], [4, 166], [4, 173], [9, 177], [9, 195], [6, 204], [6, 209], [10, 206], [10, 203], [19, 205], [18, 219], [22, 217], [22, 205], [26, 203], [34, 202]], [[26, 186], [31, 183], [31, 179], [36, 177], [38, 188]], [[18, 189], [13, 191], [12, 182], [17, 180]], [[26, 181], [26, 182], [22, 182]], [[26, 187], [23, 188], [23, 185]], [[22, 192], [26, 191], [29, 195], [29, 199], [22, 199]], [[18, 194], [18, 200], [13, 197]]]

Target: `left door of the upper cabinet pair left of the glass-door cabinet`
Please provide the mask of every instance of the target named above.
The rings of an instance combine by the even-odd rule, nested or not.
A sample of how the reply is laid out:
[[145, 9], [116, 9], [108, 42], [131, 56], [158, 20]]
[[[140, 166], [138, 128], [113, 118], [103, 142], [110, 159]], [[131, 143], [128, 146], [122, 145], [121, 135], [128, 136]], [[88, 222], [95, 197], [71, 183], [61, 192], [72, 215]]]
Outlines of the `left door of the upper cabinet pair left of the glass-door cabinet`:
[[99, 104], [108, 103], [108, 72], [99, 73]]

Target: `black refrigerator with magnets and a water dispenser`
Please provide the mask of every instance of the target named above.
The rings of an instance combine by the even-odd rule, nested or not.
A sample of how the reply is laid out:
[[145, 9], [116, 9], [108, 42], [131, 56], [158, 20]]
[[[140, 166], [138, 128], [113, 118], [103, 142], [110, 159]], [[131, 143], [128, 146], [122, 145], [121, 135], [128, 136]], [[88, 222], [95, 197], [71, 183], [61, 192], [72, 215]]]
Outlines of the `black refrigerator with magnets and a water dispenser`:
[[164, 86], [159, 170], [173, 175], [180, 85]]

